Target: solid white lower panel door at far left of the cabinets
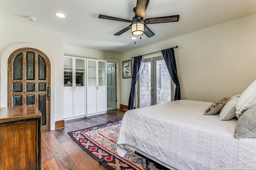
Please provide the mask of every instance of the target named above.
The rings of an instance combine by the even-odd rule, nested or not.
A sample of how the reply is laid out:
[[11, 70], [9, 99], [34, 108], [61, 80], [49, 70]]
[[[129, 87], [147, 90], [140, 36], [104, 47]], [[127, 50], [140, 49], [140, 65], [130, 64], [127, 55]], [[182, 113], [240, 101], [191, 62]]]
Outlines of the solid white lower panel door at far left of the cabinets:
[[73, 117], [73, 87], [64, 87], [64, 118]]

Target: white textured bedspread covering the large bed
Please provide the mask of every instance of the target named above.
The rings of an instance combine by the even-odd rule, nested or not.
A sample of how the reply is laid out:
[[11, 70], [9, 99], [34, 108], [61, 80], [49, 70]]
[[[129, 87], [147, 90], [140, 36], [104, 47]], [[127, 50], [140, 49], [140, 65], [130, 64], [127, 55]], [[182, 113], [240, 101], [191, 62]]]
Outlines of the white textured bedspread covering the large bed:
[[118, 153], [132, 146], [178, 170], [256, 170], [256, 139], [235, 139], [236, 119], [203, 115], [211, 104], [178, 100], [127, 111]]

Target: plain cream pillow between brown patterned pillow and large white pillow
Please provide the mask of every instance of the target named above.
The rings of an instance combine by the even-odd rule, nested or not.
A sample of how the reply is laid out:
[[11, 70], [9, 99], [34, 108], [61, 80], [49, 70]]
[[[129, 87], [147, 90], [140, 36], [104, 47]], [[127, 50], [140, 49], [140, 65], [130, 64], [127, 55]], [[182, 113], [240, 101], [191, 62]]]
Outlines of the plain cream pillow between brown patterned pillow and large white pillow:
[[230, 120], [236, 117], [236, 102], [238, 101], [240, 94], [230, 98], [227, 104], [221, 109], [219, 120]]

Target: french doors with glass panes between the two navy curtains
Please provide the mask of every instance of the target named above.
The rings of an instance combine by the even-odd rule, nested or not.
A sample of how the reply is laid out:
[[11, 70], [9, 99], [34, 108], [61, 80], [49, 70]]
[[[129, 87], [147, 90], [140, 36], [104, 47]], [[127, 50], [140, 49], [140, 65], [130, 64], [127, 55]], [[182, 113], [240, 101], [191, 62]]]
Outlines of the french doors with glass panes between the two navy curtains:
[[138, 76], [138, 107], [171, 102], [173, 86], [164, 57], [142, 60]]

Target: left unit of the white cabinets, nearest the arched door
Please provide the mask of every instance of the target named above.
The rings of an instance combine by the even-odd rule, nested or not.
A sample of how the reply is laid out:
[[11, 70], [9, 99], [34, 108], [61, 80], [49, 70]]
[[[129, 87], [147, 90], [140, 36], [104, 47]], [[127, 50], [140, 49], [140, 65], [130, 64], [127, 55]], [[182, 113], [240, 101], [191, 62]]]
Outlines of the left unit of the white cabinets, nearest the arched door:
[[86, 59], [64, 56], [64, 119], [86, 116]]

